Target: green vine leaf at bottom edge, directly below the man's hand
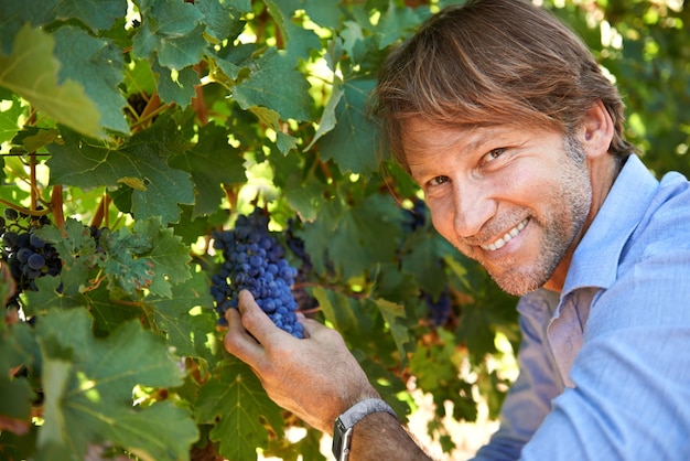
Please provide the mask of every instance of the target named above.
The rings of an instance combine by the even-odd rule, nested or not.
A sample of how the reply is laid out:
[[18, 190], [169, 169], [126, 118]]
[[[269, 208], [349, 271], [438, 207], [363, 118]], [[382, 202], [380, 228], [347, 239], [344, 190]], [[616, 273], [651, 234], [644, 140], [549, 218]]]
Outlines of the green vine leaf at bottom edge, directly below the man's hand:
[[281, 411], [249, 366], [234, 357], [201, 387], [195, 405], [200, 422], [216, 422], [209, 436], [219, 442], [218, 453], [242, 461], [256, 460], [257, 447], [268, 444], [268, 430], [261, 421], [267, 421], [282, 437]]

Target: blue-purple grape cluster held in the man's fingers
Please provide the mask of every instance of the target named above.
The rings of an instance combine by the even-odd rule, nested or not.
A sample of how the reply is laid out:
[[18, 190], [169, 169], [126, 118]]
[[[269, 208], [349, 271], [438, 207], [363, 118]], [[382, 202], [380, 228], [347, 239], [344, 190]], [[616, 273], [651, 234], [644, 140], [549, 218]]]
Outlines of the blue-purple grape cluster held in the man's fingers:
[[237, 308], [239, 292], [249, 290], [277, 326], [303, 337], [291, 291], [297, 269], [270, 235], [268, 216], [257, 208], [248, 216], [238, 216], [233, 229], [214, 232], [213, 237], [214, 248], [223, 254], [211, 287], [220, 323], [225, 322], [225, 311]]

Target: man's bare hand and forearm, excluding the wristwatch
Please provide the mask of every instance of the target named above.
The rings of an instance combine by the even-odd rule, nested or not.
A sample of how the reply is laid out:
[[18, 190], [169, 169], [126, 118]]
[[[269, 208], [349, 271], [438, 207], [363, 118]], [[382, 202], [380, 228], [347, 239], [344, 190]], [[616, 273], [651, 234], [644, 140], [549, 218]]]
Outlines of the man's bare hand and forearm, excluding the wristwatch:
[[[248, 291], [239, 312], [226, 313], [225, 347], [257, 374], [279, 406], [322, 432], [333, 435], [335, 419], [365, 398], [379, 398], [343, 337], [316, 321], [302, 319], [305, 339], [278, 329]], [[388, 414], [371, 414], [353, 430], [351, 460], [429, 459]]]

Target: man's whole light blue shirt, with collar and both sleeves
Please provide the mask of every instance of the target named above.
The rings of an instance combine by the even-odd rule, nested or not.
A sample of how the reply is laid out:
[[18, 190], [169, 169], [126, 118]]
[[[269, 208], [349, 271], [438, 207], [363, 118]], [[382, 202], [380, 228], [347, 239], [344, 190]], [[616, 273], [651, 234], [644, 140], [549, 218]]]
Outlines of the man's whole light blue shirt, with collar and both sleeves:
[[520, 374], [475, 460], [690, 460], [690, 184], [630, 156], [560, 296], [518, 303]]

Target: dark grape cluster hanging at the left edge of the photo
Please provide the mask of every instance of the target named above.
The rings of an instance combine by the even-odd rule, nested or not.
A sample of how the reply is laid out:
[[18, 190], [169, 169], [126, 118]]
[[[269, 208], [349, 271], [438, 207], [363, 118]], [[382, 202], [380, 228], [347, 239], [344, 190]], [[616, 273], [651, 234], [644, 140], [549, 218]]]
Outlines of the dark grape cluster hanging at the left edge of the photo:
[[36, 290], [35, 279], [57, 276], [62, 270], [55, 247], [35, 234], [37, 228], [46, 224], [50, 221], [45, 215], [31, 218], [14, 208], [6, 208], [3, 216], [0, 216], [0, 257], [7, 262], [17, 283], [17, 293], [9, 300], [8, 308], [19, 309], [19, 294]]

